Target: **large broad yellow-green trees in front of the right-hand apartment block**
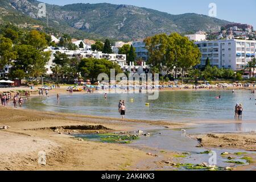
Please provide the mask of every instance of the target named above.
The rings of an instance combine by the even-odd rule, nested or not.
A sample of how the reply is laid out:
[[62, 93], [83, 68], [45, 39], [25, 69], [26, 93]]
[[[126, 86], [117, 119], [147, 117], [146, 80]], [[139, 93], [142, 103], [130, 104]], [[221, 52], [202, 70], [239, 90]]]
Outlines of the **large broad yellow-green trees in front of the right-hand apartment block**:
[[152, 73], [174, 70], [177, 78], [177, 72], [180, 71], [183, 79], [185, 72], [200, 63], [200, 49], [180, 34], [159, 34], [146, 38], [145, 42]]

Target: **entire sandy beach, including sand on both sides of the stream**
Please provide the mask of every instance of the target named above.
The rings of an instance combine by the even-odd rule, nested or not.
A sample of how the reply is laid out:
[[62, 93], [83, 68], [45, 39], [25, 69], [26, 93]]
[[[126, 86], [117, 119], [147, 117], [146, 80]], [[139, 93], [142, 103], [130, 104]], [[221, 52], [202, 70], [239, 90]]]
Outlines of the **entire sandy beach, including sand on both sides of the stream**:
[[[67, 94], [67, 86], [50, 94]], [[10, 90], [10, 89], [9, 89]], [[15, 88], [12, 90], [16, 90]], [[18, 88], [17, 90], [31, 90]], [[8, 89], [0, 90], [7, 92]], [[31, 97], [38, 95], [34, 88]], [[74, 94], [76, 94], [74, 92]], [[152, 127], [185, 129], [200, 122], [177, 123], [143, 121], [90, 115], [53, 113], [0, 106], [0, 170], [150, 170], [177, 163], [182, 152], [155, 148], [136, 148], [125, 144], [79, 140], [73, 133], [134, 132]], [[210, 121], [207, 121], [210, 122]], [[206, 122], [206, 123], [207, 123]], [[212, 121], [214, 122], [214, 121]], [[220, 121], [218, 121], [220, 122]], [[223, 121], [230, 122], [230, 121]], [[74, 129], [75, 128], [75, 129]], [[255, 151], [255, 133], [201, 134], [189, 136], [200, 140], [201, 147], [235, 148]], [[46, 164], [38, 163], [39, 152], [46, 152]], [[176, 156], [176, 157], [175, 157]], [[255, 155], [252, 155], [255, 160]], [[255, 162], [250, 165], [255, 166]], [[245, 170], [246, 168], [238, 168]]]

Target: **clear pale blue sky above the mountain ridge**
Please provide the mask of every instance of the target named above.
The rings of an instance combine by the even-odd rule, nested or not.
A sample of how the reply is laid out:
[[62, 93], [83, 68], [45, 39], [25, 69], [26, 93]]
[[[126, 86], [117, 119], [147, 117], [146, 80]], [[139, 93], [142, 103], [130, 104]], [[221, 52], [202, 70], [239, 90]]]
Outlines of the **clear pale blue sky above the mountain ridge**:
[[230, 22], [252, 24], [256, 29], [255, 0], [39, 0], [55, 5], [72, 3], [113, 3], [147, 7], [170, 14], [197, 13], [208, 15], [209, 3], [216, 3], [217, 17]]

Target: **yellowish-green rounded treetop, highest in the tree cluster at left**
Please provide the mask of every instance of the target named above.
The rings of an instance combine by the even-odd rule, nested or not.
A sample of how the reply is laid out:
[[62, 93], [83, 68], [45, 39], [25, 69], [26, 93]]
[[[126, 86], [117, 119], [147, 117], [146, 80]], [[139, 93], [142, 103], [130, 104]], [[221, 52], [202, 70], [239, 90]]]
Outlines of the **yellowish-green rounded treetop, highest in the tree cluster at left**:
[[35, 47], [38, 50], [43, 50], [47, 47], [47, 40], [45, 34], [40, 33], [36, 30], [31, 30], [28, 32], [26, 37], [27, 44]]

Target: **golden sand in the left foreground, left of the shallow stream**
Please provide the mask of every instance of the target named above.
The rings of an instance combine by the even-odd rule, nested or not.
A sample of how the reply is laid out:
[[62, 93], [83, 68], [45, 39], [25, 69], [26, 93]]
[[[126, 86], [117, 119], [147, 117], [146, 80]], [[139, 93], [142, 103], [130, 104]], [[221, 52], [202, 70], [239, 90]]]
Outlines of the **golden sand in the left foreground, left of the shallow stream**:
[[[151, 127], [150, 123], [86, 117], [35, 110], [0, 107], [0, 169], [2, 170], [137, 170], [137, 163], [155, 158], [146, 151], [123, 144], [80, 141], [59, 134], [50, 127], [97, 126], [104, 124], [110, 131], [136, 131]], [[168, 123], [172, 126], [171, 123]], [[175, 127], [180, 127], [175, 123]], [[96, 133], [102, 130], [86, 130]], [[85, 131], [84, 131], [85, 132]], [[46, 165], [38, 164], [38, 152], [44, 151]], [[170, 157], [170, 156], [169, 156]]]

